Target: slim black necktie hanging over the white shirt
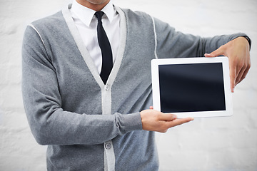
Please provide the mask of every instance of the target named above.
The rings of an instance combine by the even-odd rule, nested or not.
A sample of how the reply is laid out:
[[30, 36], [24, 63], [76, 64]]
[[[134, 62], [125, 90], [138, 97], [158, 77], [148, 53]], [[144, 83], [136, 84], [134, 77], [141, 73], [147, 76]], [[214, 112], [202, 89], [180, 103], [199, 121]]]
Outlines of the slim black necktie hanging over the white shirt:
[[101, 21], [101, 18], [104, 15], [104, 12], [98, 11], [96, 12], [95, 15], [96, 15], [96, 18], [98, 19], [97, 38], [99, 41], [99, 46], [101, 48], [101, 54], [102, 54], [102, 67], [101, 67], [100, 76], [101, 76], [101, 79], [104, 81], [104, 84], [106, 84], [106, 81], [108, 80], [108, 77], [111, 73], [111, 68], [113, 67], [111, 45], [106, 35], [106, 32], [104, 31], [103, 24]]

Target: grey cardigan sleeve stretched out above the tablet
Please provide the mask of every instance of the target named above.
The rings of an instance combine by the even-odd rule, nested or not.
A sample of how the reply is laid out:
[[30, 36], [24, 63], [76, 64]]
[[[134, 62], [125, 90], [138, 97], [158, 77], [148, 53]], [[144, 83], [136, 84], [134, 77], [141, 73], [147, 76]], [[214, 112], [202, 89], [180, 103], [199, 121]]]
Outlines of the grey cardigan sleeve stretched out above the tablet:
[[203, 57], [205, 53], [211, 53], [220, 46], [228, 43], [228, 41], [239, 36], [246, 37], [251, 45], [251, 40], [245, 33], [202, 38], [200, 36], [175, 31], [175, 28], [158, 19], [154, 19], [154, 23], [157, 39], [156, 53], [158, 58]]

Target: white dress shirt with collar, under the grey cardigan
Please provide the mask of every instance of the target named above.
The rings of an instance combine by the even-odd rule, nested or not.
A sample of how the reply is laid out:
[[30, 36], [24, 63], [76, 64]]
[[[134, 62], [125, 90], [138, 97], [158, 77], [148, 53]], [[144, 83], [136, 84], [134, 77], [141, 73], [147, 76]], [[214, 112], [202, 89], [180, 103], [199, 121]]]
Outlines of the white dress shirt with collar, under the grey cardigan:
[[[101, 73], [101, 48], [99, 47], [97, 39], [97, 19], [94, 15], [96, 11], [82, 6], [76, 0], [73, 1], [70, 11], [81, 38], [84, 41], [97, 70]], [[104, 9], [101, 11], [104, 12], [102, 23], [109, 38], [111, 51], [113, 53], [113, 62], [115, 62], [119, 48], [120, 16], [111, 1], [104, 6]]]

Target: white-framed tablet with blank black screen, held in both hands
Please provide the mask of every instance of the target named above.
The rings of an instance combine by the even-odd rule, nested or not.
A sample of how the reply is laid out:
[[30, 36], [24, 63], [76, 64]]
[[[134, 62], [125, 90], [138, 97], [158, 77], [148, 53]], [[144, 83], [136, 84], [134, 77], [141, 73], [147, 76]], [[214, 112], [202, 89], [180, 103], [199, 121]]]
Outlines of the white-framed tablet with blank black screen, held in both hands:
[[153, 109], [178, 118], [233, 115], [228, 58], [151, 61]]

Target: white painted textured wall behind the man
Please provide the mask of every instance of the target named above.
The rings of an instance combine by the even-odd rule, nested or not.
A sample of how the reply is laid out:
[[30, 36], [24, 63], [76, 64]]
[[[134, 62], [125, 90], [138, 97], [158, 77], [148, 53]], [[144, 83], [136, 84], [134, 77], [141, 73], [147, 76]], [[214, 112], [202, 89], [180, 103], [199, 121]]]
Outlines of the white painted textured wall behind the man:
[[[70, 0], [0, 0], [0, 170], [46, 170], [21, 99], [21, 41], [26, 24]], [[157, 134], [160, 170], [257, 170], [257, 1], [115, 0], [146, 11], [177, 30], [200, 36], [244, 32], [251, 37], [251, 71], [233, 93], [234, 115], [196, 119]]]

